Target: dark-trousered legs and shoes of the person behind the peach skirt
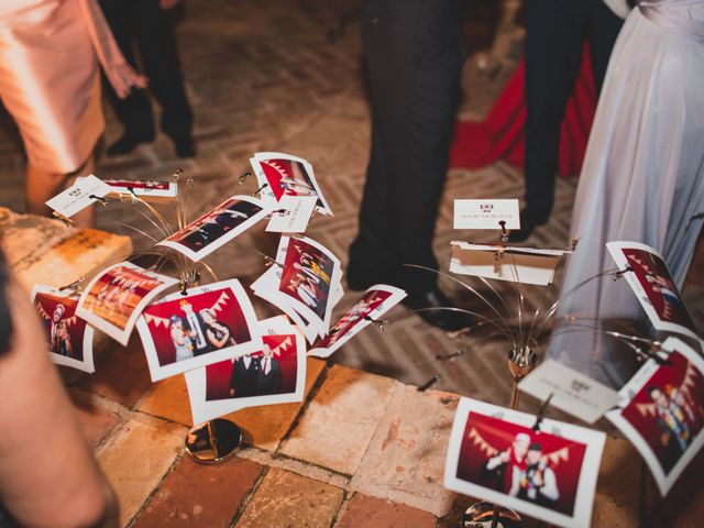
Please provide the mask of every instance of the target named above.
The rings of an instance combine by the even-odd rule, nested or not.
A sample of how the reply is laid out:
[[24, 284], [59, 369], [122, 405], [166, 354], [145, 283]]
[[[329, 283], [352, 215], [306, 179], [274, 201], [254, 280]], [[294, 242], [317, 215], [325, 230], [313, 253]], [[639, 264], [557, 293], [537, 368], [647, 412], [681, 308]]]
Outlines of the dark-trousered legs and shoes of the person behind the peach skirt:
[[[150, 79], [148, 89], [162, 107], [162, 131], [174, 142], [178, 157], [194, 157], [193, 111], [180, 72], [170, 13], [178, 0], [99, 0], [110, 29], [128, 62], [139, 62]], [[132, 152], [154, 140], [154, 116], [147, 90], [134, 90], [127, 99], [108, 87], [116, 113], [124, 127], [108, 147], [109, 156]]]

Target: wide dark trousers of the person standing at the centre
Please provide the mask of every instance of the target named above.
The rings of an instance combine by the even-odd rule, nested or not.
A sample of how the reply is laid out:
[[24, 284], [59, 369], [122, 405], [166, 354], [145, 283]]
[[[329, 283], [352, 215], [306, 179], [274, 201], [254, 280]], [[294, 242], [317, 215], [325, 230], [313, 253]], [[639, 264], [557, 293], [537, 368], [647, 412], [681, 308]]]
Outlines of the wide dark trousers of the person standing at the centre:
[[375, 132], [352, 268], [395, 266], [394, 282], [409, 292], [436, 284], [435, 274], [398, 264], [438, 266], [432, 238], [464, 59], [463, 3], [369, 0], [362, 11]]

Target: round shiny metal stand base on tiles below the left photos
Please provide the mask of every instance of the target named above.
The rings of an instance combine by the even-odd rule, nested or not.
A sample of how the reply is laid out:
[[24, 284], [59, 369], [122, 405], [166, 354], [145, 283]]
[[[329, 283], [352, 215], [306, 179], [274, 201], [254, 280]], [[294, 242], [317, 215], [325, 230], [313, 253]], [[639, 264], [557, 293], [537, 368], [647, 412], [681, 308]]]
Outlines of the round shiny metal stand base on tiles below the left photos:
[[201, 464], [219, 464], [234, 455], [242, 446], [242, 431], [224, 418], [194, 426], [186, 436], [186, 451]]

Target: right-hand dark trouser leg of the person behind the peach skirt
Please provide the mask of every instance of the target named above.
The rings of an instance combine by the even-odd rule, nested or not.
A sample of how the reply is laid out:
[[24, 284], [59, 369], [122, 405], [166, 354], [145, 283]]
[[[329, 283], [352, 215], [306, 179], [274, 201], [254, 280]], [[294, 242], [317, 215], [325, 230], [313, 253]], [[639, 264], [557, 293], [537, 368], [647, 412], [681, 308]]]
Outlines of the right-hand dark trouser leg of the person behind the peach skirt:
[[190, 139], [193, 112], [184, 90], [174, 29], [158, 0], [133, 0], [134, 28], [150, 89], [162, 107], [162, 130], [175, 140]]

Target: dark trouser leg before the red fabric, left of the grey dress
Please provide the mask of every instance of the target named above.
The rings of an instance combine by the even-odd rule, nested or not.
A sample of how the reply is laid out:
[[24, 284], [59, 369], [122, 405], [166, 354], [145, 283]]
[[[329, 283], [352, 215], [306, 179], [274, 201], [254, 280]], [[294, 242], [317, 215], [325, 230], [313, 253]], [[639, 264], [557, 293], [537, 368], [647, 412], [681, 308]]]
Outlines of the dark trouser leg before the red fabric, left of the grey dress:
[[560, 123], [574, 87], [591, 0], [529, 0], [526, 23], [526, 209], [543, 222], [554, 201]]

